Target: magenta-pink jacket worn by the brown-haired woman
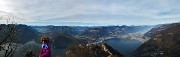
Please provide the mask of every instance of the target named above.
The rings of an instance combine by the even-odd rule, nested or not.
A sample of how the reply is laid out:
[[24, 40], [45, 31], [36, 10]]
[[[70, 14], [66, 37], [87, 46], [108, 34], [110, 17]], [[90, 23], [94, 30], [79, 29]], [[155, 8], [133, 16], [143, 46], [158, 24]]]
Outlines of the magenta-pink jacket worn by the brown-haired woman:
[[51, 57], [51, 45], [50, 45], [49, 41], [46, 45], [47, 45], [47, 47], [41, 48], [41, 53], [40, 53], [39, 57]]

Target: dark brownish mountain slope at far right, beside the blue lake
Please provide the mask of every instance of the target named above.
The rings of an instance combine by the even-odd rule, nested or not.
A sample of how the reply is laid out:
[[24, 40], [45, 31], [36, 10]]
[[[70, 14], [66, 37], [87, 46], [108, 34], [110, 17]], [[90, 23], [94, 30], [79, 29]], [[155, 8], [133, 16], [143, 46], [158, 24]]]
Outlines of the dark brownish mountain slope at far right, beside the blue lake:
[[142, 44], [131, 57], [180, 56], [180, 23], [157, 25], [146, 35], [151, 39]]

